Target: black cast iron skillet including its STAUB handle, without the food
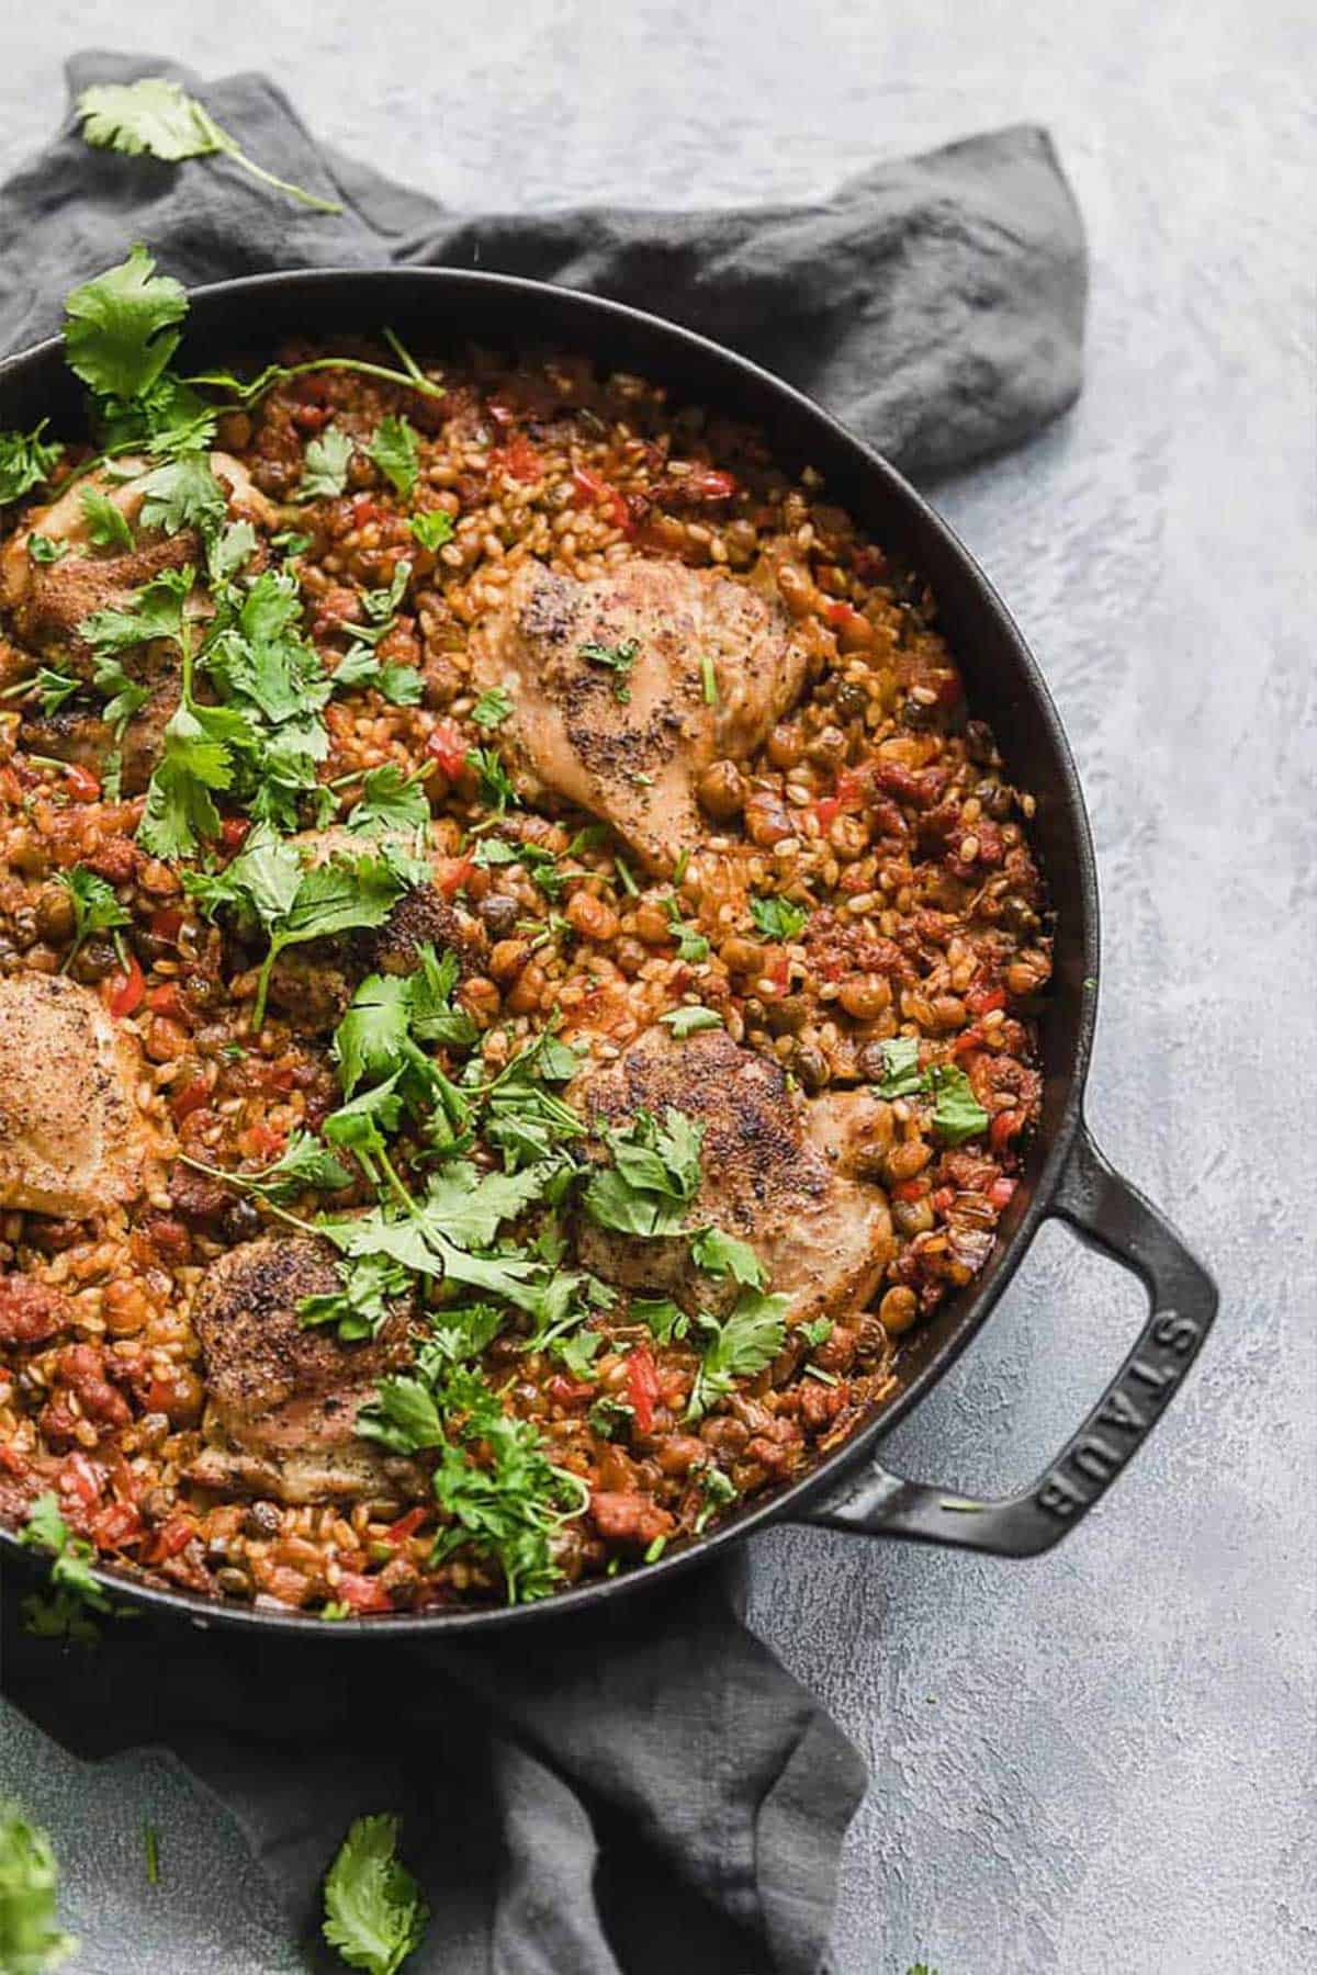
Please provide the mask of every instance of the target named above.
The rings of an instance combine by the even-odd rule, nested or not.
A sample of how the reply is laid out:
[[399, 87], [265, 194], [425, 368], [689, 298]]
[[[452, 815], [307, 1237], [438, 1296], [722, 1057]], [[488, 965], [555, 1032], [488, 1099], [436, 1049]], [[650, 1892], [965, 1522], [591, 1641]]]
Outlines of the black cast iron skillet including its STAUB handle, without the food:
[[[288, 334], [324, 338], [377, 332], [383, 324], [421, 350], [468, 338], [513, 352], [553, 344], [608, 369], [659, 379], [675, 401], [748, 419], [764, 429], [784, 468], [815, 466], [829, 498], [930, 581], [969, 705], [991, 723], [1011, 778], [1039, 800], [1033, 839], [1056, 908], [1054, 984], [1043, 1021], [1043, 1122], [995, 1254], [968, 1290], [902, 1343], [898, 1384], [879, 1414], [800, 1481], [758, 1497], [731, 1523], [644, 1572], [511, 1610], [399, 1614], [338, 1625], [296, 1612], [221, 1606], [140, 1584], [118, 1570], [101, 1576], [116, 1594], [194, 1623], [379, 1639], [385, 1631], [456, 1637], [567, 1618], [673, 1578], [770, 1523], [1037, 1556], [1088, 1515], [1157, 1424], [1216, 1315], [1216, 1288], [1157, 1209], [1112, 1171], [1084, 1124], [1098, 1003], [1098, 881], [1074, 760], [1025, 640], [973, 557], [887, 460], [744, 357], [616, 302], [448, 269], [259, 275], [194, 292], [180, 367], [241, 352], [269, 357]], [[43, 417], [53, 433], [75, 433], [81, 421], [59, 342], [0, 363], [0, 427], [28, 429]], [[889, 1473], [879, 1460], [883, 1440], [960, 1357], [1052, 1215], [1133, 1270], [1149, 1292], [1149, 1315], [1125, 1363], [1046, 1473], [1019, 1495], [968, 1501]], [[18, 1550], [10, 1531], [0, 1531], [0, 1539]], [[18, 1554], [32, 1560], [30, 1550]]]

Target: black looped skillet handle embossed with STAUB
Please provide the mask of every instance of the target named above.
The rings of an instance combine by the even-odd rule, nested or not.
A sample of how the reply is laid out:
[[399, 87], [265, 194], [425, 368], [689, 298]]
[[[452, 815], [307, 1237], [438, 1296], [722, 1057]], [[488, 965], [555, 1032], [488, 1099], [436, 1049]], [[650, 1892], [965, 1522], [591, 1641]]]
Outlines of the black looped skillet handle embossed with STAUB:
[[968, 1501], [875, 1462], [798, 1521], [991, 1556], [1039, 1556], [1102, 1501], [1199, 1355], [1216, 1317], [1216, 1284], [1157, 1209], [1108, 1165], [1084, 1124], [1048, 1211], [1141, 1276], [1151, 1305], [1133, 1351], [1074, 1440], [1033, 1487], [1005, 1501]]

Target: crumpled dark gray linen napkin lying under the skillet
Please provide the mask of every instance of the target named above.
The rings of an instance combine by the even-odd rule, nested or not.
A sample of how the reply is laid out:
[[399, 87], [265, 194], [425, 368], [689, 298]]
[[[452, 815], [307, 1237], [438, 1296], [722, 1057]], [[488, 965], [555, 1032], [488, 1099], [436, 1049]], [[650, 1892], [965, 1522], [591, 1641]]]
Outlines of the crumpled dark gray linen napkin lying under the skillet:
[[[1043, 130], [883, 164], [808, 205], [454, 215], [320, 146], [259, 75], [201, 85], [83, 53], [69, 89], [160, 73], [346, 211], [308, 213], [219, 158], [93, 152], [67, 120], [0, 188], [0, 352], [53, 332], [63, 294], [144, 239], [190, 284], [460, 265], [658, 306], [916, 472], [1021, 442], [1080, 389], [1084, 237]], [[810, 1975], [865, 1774], [742, 1604], [731, 1570], [478, 1647], [136, 1623], [81, 1653], [30, 1639], [10, 1584], [0, 1789], [45, 1817], [83, 1965], [107, 1975], [296, 1967], [263, 1888], [300, 1965], [330, 1965], [318, 1880], [379, 1809], [403, 1813], [434, 1908], [417, 1975]], [[144, 1815], [164, 1825], [166, 1898], [132, 1858]]]

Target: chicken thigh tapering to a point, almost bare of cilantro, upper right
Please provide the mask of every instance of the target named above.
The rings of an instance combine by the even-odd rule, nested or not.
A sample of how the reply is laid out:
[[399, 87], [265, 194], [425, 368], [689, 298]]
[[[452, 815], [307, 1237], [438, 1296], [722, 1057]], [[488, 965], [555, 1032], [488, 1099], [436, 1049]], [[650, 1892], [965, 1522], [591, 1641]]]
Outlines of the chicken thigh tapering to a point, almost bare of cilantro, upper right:
[[[620, 652], [622, 670], [588, 646]], [[750, 754], [806, 673], [776, 598], [642, 561], [590, 583], [523, 563], [472, 660], [474, 683], [513, 701], [500, 745], [519, 792], [590, 810], [656, 871], [699, 839], [701, 772]]]

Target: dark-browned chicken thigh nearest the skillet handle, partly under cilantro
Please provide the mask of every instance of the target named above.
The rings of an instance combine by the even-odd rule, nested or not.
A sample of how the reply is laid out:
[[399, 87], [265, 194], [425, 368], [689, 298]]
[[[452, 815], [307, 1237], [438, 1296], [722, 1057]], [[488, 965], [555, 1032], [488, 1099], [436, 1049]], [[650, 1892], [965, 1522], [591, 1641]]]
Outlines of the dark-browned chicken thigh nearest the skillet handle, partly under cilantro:
[[[575, 1092], [596, 1120], [626, 1126], [667, 1106], [705, 1128], [703, 1179], [689, 1228], [719, 1226], [750, 1242], [774, 1292], [792, 1298], [788, 1323], [863, 1307], [892, 1252], [887, 1195], [841, 1177], [821, 1147], [845, 1132], [829, 1098], [798, 1100], [782, 1070], [740, 1049], [725, 1029], [675, 1041], [646, 1029], [608, 1068]], [[731, 1302], [733, 1284], [701, 1274], [689, 1242], [614, 1234], [582, 1219], [581, 1260], [606, 1282], [673, 1296], [687, 1309]]]

